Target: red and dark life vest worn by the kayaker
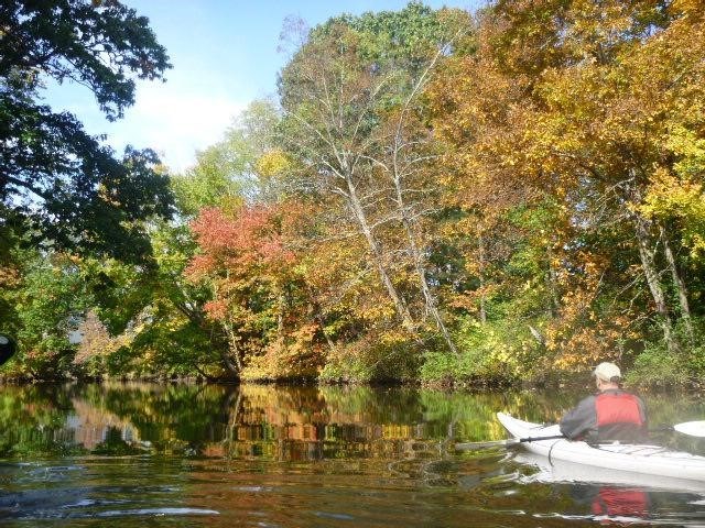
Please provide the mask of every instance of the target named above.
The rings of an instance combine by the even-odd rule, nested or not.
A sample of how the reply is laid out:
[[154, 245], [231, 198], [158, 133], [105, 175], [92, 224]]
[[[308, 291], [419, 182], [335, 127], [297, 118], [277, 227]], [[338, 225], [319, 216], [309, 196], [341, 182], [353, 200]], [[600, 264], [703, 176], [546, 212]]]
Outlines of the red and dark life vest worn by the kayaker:
[[595, 398], [598, 441], [638, 442], [643, 439], [644, 421], [639, 398], [623, 392], [600, 393]]

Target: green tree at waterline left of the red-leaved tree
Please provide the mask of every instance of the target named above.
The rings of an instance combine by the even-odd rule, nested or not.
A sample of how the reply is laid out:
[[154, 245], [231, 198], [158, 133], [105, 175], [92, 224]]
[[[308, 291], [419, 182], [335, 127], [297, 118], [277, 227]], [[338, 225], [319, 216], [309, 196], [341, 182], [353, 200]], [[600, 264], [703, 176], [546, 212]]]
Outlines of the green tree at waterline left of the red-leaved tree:
[[153, 222], [149, 235], [154, 250], [150, 266], [79, 261], [93, 310], [116, 337], [110, 351], [85, 366], [108, 375], [217, 377], [213, 355], [224, 343], [205, 318], [208, 290], [183, 276], [196, 248], [193, 235], [187, 226], [173, 222]]

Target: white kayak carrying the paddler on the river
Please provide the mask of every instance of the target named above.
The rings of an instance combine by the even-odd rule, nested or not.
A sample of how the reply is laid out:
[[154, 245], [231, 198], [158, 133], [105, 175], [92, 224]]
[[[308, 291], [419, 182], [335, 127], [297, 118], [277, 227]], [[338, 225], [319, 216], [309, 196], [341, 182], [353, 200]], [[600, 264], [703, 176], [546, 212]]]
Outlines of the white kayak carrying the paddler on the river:
[[[512, 437], [534, 438], [561, 435], [557, 425], [543, 426], [498, 413], [497, 418]], [[545, 457], [551, 465], [565, 461], [617, 472], [705, 482], [705, 457], [649, 444], [619, 442], [589, 446], [567, 439], [522, 442], [532, 453]]]

